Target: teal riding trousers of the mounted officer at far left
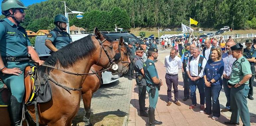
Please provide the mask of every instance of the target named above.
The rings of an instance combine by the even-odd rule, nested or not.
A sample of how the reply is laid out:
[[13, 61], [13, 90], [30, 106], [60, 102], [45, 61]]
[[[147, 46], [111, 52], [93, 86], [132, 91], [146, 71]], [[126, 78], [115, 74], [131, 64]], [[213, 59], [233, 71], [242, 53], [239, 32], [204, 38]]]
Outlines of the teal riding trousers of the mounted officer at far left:
[[[29, 66], [29, 62], [7, 62], [5, 64], [5, 67], [7, 68], [20, 68], [22, 71], [22, 74], [20, 76], [17, 75], [9, 75], [0, 74], [1, 79], [6, 84], [7, 88], [11, 91], [12, 95], [15, 96], [18, 100], [18, 102], [23, 101], [23, 96], [25, 93], [25, 86], [24, 86], [24, 72], [26, 66]], [[32, 65], [32, 64], [31, 64]]]

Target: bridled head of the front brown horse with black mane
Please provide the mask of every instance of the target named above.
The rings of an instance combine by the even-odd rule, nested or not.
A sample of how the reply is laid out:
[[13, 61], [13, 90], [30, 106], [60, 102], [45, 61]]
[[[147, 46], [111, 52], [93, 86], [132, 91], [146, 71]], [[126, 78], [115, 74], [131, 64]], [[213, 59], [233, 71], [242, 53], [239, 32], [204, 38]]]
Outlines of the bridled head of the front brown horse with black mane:
[[95, 64], [101, 67], [109, 67], [115, 60], [120, 58], [120, 54], [113, 49], [113, 44], [110, 38], [105, 34], [100, 33], [97, 28], [93, 31], [92, 41], [96, 46]]

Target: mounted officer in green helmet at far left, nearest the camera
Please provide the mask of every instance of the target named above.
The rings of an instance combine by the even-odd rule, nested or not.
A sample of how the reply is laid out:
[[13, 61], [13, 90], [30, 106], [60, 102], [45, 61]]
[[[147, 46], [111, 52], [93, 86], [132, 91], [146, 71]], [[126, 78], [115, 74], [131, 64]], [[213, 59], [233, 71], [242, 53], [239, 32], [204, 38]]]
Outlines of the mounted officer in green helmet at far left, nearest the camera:
[[19, 61], [31, 55], [32, 60], [42, 65], [38, 54], [31, 46], [28, 35], [20, 23], [24, 22], [25, 9], [20, 0], [3, 0], [2, 14], [6, 17], [0, 20], [0, 78], [6, 84], [12, 95], [8, 111], [11, 126], [21, 124], [25, 67], [32, 64], [29, 61]]

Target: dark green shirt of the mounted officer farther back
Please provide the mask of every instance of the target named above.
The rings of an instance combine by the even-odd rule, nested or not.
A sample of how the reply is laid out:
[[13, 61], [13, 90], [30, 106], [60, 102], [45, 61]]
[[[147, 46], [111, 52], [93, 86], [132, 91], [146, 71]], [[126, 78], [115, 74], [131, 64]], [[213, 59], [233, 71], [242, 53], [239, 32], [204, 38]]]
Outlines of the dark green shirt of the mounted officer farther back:
[[59, 50], [72, 42], [70, 35], [65, 31], [60, 31], [55, 28], [47, 35], [48, 40], [53, 42], [53, 45]]

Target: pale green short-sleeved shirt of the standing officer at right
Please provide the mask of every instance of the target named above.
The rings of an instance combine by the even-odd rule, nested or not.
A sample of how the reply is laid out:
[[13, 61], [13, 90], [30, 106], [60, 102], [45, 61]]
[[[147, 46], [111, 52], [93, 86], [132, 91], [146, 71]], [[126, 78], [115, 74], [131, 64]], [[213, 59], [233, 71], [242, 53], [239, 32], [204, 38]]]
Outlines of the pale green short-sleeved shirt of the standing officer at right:
[[[247, 59], [241, 56], [238, 60], [236, 60], [232, 65], [232, 71], [229, 84], [235, 85], [240, 82], [243, 77], [247, 74], [252, 74], [251, 65]], [[249, 80], [244, 84], [249, 84]]]

